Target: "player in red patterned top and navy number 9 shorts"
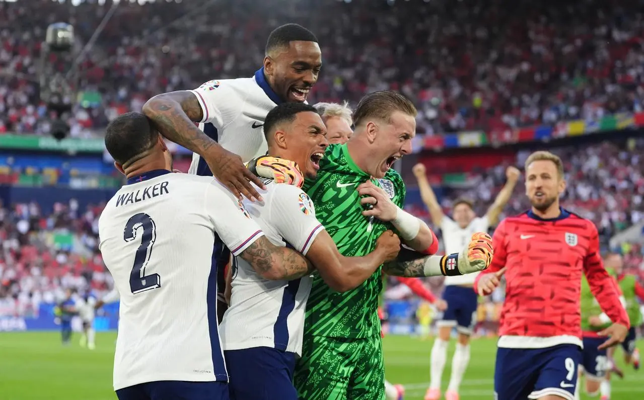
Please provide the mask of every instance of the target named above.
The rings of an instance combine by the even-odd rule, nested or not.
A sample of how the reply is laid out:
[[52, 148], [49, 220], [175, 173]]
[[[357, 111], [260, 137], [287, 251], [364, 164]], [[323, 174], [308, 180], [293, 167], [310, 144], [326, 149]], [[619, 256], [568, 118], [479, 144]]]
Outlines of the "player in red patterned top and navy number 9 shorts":
[[495, 367], [498, 400], [573, 400], [581, 361], [580, 282], [586, 276], [601, 309], [613, 322], [600, 349], [624, 340], [629, 317], [603, 268], [599, 235], [591, 221], [559, 206], [565, 190], [562, 160], [538, 151], [526, 160], [531, 210], [502, 221], [495, 255], [475, 281], [489, 295], [506, 275]]

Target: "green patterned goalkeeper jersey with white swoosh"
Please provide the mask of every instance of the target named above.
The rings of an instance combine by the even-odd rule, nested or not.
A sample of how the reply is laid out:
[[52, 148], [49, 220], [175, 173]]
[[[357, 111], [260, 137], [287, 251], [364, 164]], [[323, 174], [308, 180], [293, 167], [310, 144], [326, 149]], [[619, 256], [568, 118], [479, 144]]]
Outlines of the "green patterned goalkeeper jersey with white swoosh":
[[[389, 224], [362, 215], [356, 188], [371, 176], [360, 170], [345, 145], [331, 145], [320, 162], [317, 179], [305, 181], [303, 189], [312, 199], [316, 217], [346, 257], [359, 257], [374, 250], [377, 238]], [[403, 178], [393, 169], [383, 179], [371, 179], [384, 189], [393, 203], [403, 207]], [[363, 284], [337, 293], [319, 277], [313, 278], [307, 302], [304, 334], [334, 338], [371, 338], [380, 334], [378, 296], [383, 288], [381, 268]]]

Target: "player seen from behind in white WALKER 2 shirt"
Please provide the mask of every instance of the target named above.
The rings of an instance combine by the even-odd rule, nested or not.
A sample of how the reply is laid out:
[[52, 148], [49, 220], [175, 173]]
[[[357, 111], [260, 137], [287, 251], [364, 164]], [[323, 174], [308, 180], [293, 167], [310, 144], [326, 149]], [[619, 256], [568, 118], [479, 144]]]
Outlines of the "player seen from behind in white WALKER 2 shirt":
[[118, 116], [105, 144], [128, 177], [99, 219], [100, 251], [120, 293], [118, 399], [228, 399], [215, 301], [223, 246], [269, 280], [308, 275], [310, 264], [271, 244], [213, 177], [173, 174], [146, 116]]

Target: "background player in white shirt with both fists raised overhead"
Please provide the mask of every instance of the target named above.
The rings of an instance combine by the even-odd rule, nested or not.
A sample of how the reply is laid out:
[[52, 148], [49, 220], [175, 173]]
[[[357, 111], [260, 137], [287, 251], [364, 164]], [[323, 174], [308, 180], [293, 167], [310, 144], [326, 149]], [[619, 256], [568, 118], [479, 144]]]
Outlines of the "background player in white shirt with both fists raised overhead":
[[[458, 251], [467, 244], [472, 233], [488, 232], [490, 226], [498, 223], [498, 216], [509, 201], [520, 176], [519, 170], [515, 167], [507, 168], [506, 185], [500, 190], [483, 217], [476, 216], [472, 203], [461, 199], [452, 205], [452, 218], [450, 218], [443, 214], [436, 195], [431, 190], [425, 174], [425, 166], [421, 163], [415, 165], [413, 174], [418, 181], [422, 201], [430, 211], [431, 221], [435, 226], [440, 226], [446, 254]], [[445, 399], [459, 400], [459, 386], [469, 363], [469, 338], [473, 332], [478, 306], [477, 295], [472, 290], [477, 275], [478, 273], [472, 273], [460, 277], [445, 277], [443, 300], [447, 302], [448, 308], [442, 320], [437, 322], [439, 336], [431, 349], [430, 387], [425, 394], [425, 400], [440, 399], [440, 379], [454, 327], [459, 332], [459, 338], [451, 361], [450, 384], [445, 392]]]

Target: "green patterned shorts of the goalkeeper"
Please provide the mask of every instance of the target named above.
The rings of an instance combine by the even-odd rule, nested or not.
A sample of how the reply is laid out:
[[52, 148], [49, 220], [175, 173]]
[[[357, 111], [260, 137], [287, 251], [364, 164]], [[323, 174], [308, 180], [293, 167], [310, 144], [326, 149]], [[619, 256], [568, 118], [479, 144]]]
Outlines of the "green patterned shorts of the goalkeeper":
[[305, 336], [294, 384], [300, 400], [383, 400], [383, 342]]

